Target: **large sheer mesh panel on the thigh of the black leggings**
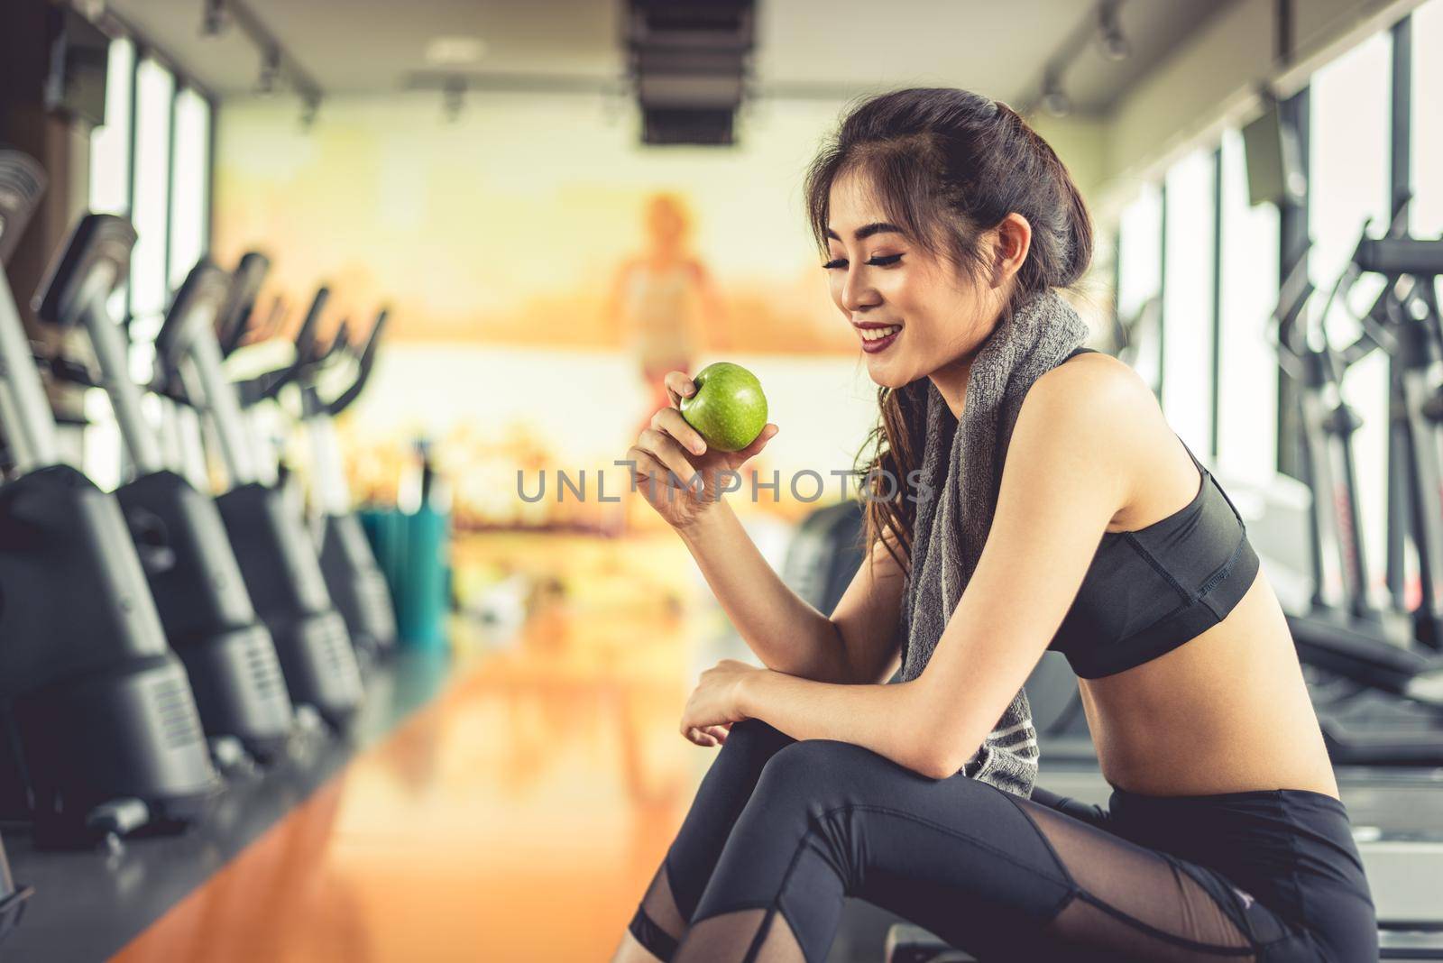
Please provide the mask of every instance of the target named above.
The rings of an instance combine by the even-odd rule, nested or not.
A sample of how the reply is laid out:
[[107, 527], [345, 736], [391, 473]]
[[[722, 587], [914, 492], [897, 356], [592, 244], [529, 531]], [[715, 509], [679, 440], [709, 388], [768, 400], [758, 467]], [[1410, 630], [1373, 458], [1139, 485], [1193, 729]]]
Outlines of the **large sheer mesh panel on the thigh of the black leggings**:
[[1019, 804], [1082, 889], [1048, 924], [1049, 936], [1170, 963], [1254, 959], [1248, 936], [1166, 856], [1043, 806]]

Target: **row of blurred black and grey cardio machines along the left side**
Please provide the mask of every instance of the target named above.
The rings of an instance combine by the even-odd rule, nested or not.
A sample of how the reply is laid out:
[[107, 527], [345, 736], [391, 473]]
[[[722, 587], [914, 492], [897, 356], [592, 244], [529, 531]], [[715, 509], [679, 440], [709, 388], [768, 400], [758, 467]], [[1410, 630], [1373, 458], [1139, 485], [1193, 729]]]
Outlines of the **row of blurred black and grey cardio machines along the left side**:
[[[45, 185], [0, 148], [0, 264]], [[320, 345], [322, 288], [287, 363], [232, 382], [225, 360], [257, 336], [268, 262], [202, 259], [141, 385], [111, 307], [134, 242], [126, 219], [84, 216], [35, 293], [38, 320], [84, 332], [92, 363], [39, 360], [0, 271], [0, 819], [38, 846], [195, 822], [232, 768], [343, 734], [397, 640], [332, 425], [367, 382], [385, 313], [365, 337], [342, 324]], [[113, 493], [62, 457], [40, 368], [108, 395], [127, 463]], [[254, 425], [283, 396], [313, 443], [309, 506]], [[25, 895], [0, 856], [0, 926]]]

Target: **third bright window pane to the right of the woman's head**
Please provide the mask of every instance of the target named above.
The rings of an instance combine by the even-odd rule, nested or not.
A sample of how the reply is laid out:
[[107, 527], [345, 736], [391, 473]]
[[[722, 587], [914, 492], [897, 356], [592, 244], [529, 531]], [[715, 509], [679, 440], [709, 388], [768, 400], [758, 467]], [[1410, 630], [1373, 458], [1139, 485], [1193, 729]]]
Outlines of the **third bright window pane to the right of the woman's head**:
[[[1222, 262], [1218, 396], [1219, 471], [1266, 482], [1277, 464], [1277, 363], [1268, 320], [1277, 306], [1278, 215], [1248, 205], [1242, 134], [1222, 134]], [[1170, 278], [1169, 278], [1170, 284]]]

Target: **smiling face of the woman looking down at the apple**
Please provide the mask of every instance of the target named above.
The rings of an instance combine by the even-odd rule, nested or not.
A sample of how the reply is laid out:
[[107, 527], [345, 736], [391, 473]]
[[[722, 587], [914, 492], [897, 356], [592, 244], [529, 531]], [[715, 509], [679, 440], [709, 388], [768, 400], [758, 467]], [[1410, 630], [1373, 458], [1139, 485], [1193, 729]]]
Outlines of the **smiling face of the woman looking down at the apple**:
[[877, 385], [900, 388], [965, 363], [991, 333], [1001, 310], [997, 288], [887, 225], [864, 177], [833, 182], [827, 228], [831, 300], [853, 326]]

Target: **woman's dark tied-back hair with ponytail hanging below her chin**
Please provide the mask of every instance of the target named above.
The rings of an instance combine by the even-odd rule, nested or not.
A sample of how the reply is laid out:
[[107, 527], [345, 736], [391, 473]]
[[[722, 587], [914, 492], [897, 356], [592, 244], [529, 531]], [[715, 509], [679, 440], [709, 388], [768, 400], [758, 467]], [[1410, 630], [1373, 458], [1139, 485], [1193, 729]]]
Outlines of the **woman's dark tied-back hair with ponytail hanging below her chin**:
[[[1026, 218], [1032, 247], [1001, 323], [1027, 294], [1076, 284], [1092, 259], [1092, 219], [1072, 176], [1000, 101], [941, 86], [880, 94], [854, 107], [807, 172], [807, 213], [824, 252], [831, 186], [848, 173], [866, 176], [886, 219], [911, 242], [974, 278], [986, 267], [978, 236], [1012, 212]], [[856, 466], [859, 476], [877, 473], [866, 482], [869, 555], [886, 533], [883, 545], [903, 568], [899, 551], [911, 556], [916, 515], [906, 479], [922, 463], [926, 415], [919, 383], [877, 391], [882, 415]]]

